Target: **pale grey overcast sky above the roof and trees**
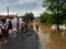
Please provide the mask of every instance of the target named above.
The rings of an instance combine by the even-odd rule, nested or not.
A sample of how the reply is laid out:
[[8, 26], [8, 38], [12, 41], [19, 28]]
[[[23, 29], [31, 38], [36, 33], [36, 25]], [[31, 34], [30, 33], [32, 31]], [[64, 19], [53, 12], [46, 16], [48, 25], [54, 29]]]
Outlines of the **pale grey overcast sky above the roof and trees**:
[[25, 12], [33, 12], [35, 16], [44, 12], [40, 0], [0, 0], [0, 14], [7, 14], [9, 5], [10, 14], [23, 15]]

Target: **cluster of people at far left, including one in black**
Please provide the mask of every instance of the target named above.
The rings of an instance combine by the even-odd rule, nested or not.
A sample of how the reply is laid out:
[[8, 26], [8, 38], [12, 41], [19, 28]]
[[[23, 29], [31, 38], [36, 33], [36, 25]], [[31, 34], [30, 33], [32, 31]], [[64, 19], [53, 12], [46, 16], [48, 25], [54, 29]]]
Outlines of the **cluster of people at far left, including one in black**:
[[7, 22], [2, 22], [0, 40], [6, 41], [8, 39], [10, 29], [12, 29], [11, 20], [8, 23]]

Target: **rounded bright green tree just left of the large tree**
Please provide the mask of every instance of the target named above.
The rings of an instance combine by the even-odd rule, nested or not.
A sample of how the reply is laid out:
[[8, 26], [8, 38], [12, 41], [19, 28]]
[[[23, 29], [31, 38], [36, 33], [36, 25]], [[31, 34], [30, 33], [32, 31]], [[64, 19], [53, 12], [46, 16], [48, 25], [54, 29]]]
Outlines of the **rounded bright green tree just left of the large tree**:
[[55, 22], [53, 14], [46, 12], [40, 15], [40, 21], [47, 24], [53, 24]]

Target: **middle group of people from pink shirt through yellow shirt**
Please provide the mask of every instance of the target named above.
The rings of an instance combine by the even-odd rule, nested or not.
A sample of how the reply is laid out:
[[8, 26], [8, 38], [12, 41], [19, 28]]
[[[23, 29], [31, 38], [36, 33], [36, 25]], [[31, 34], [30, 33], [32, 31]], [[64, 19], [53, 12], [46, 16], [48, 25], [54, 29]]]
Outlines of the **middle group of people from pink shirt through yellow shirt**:
[[35, 26], [36, 32], [38, 32], [38, 26], [40, 26], [40, 22], [24, 22], [23, 20], [19, 23], [20, 27], [21, 27], [21, 33], [22, 34], [31, 34], [34, 29], [33, 27]]

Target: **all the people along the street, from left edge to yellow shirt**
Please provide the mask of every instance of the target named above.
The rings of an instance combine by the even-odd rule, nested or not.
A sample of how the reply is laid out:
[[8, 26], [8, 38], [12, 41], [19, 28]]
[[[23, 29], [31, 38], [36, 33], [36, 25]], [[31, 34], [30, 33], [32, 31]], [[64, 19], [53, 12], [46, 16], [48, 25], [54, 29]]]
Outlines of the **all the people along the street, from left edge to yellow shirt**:
[[[40, 22], [34, 22], [35, 23], [35, 28], [38, 32], [38, 26], [40, 26]], [[16, 23], [16, 34], [21, 32], [21, 34], [29, 34], [31, 35], [31, 33], [34, 30], [34, 23], [32, 21], [30, 22], [24, 22], [23, 20], [19, 23]], [[21, 27], [20, 32], [19, 32], [19, 26]], [[9, 30], [12, 29], [12, 22], [11, 20], [9, 22], [3, 23], [2, 22], [2, 26], [1, 26], [1, 34], [0, 34], [0, 40], [4, 41], [8, 39], [9, 37]]]

